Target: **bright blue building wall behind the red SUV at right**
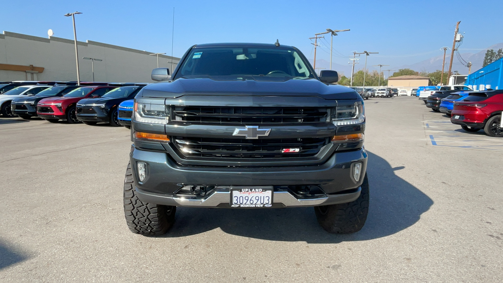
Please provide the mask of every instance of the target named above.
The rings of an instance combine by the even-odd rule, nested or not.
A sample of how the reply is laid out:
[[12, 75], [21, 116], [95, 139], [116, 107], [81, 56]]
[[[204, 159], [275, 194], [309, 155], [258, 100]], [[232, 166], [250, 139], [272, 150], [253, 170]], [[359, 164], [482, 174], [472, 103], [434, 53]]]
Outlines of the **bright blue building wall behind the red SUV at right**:
[[503, 89], [503, 58], [468, 75], [465, 85], [473, 90]]

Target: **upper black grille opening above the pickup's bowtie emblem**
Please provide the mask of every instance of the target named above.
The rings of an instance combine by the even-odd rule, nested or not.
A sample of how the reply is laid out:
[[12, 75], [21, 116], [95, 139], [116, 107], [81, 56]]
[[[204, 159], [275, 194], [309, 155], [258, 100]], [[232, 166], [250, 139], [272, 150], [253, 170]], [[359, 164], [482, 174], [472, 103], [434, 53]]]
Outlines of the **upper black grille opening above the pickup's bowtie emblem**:
[[325, 122], [326, 108], [175, 106], [175, 121], [219, 124], [286, 124]]

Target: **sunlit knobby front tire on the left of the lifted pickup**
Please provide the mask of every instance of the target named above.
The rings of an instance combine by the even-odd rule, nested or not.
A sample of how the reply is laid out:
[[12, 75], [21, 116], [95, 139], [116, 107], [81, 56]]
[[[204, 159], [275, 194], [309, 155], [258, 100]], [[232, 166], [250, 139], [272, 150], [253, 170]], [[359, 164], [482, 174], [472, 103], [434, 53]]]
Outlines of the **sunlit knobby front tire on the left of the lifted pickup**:
[[176, 206], [143, 202], [134, 194], [131, 163], [124, 180], [124, 215], [129, 230], [144, 236], [166, 234], [175, 223]]

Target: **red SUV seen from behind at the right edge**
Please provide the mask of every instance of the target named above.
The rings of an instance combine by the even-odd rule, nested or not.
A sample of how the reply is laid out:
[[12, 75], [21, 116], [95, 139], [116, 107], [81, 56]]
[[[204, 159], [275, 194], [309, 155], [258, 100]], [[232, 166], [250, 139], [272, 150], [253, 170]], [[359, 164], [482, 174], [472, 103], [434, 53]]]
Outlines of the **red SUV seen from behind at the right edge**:
[[451, 122], [466, 131], [484, 129], [488, 136], [503, 137], [500, 127], [503, 111], [503, 90], [471, 92], [465, 99], [454, 103]]

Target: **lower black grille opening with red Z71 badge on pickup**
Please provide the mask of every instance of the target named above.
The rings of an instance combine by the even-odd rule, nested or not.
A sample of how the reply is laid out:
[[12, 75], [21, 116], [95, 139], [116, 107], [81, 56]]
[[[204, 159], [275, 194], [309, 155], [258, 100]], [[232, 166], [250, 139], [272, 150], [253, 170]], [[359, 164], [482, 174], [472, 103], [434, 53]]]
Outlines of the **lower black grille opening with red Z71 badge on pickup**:
[[173, 141], [186, 157], [256, 159], [311, 157], [329, 143], [329, 137], [239, 139], [174, 136]]

